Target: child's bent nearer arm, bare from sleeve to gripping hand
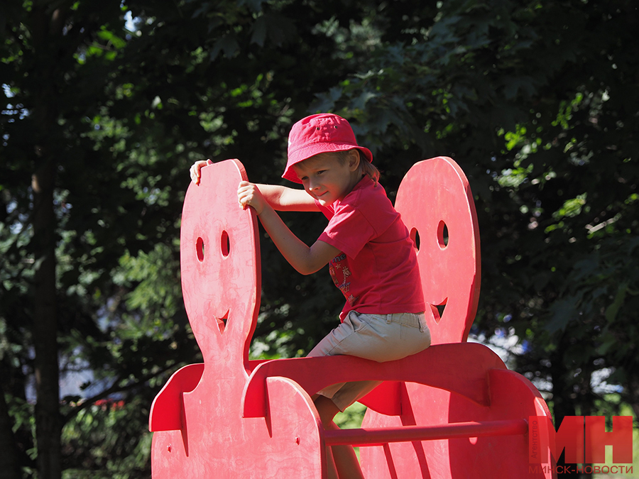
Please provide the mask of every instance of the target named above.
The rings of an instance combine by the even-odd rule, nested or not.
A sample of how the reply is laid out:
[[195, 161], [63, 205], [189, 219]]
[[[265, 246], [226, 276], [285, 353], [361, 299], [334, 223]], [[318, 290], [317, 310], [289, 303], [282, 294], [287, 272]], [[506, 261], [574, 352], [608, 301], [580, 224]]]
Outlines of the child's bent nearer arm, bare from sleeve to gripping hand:
[[237, 197], [242, 208], [251, 206], [255, 209], [275, 246], [278, 247], [288, 263], [302, 275], [310, 275], [320, 270], [339, 254], [337, 248], [324, 243], [324, 241], [315, 241], [313, 246], [309, 247], [300, 238], [297, 238], [284, 224], [262, 194], [261, 189], [256, 185], [246, 181], [241, 182], [237, 190]]

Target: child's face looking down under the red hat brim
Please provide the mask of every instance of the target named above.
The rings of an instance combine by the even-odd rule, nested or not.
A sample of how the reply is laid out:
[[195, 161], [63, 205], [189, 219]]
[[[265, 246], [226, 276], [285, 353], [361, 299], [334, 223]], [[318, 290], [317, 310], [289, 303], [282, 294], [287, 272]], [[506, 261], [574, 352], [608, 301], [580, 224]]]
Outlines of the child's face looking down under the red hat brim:
[[344, 199], [361, 180], [359, 154], [351, 151], [344, 162], [338, 160], [337, 153], [320, 153], [293, 165], [306, 192], [322, 206]]

